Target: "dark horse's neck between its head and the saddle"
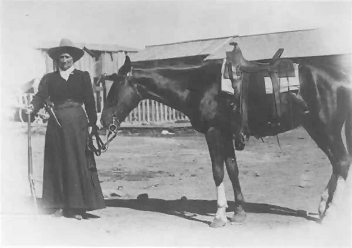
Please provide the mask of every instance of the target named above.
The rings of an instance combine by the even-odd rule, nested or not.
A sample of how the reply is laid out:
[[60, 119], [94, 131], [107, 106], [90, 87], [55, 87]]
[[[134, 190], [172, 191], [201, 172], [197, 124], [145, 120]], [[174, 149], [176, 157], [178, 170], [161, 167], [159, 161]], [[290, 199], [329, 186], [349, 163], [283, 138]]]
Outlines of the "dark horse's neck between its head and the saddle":
[[145, 98], [156, 100], [184, 114], [190, 112], [206, 91], [218, 93], [221, 64], [180, 70], [137, 72], [137, 84]]

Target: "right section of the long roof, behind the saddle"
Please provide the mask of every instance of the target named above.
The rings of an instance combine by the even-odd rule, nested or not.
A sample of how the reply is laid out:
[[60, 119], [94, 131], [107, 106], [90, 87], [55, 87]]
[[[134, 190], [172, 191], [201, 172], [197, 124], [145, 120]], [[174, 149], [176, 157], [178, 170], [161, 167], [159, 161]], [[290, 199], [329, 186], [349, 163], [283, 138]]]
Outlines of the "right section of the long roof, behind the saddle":
[[[343, 30], [296, 30], [239, 36], [232, 41], [238, 43], [247, 60], [272, 58], [279, 48], [285, 49], [282, 58], [349, 54], [352, 51], [351, 39]], [[205, 60], [225, 58], [226, 51], [233, 49], [228, 43]]]

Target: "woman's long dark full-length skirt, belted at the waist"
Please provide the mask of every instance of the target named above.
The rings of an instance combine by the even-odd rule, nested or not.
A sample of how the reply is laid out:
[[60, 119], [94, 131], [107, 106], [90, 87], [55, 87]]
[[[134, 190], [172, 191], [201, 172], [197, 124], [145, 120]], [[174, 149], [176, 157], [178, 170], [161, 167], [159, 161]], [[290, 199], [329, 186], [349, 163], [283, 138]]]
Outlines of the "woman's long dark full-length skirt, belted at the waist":
[[81, 106], [55, 111], [45, 135], [43, 207], [91, 211], [105, 208], [94, 153], [88, 149], [88, 120]]

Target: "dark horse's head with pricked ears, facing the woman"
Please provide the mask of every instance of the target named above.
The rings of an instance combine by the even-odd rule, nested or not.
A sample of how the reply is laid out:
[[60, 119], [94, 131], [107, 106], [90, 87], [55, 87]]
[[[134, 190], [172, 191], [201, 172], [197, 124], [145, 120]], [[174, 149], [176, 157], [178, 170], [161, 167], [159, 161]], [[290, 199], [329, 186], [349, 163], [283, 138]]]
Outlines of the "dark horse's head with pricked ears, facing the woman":
[[128, 115], [142, 100], [137, 85], [133, 82], [131, 73], [131, 60], [126, 56], [124, 65], [119, 72], [106, 76], [106, 80], [112, 80], [113, 84], [108, 93], [100, 122], [104, 128], [116, 132]]

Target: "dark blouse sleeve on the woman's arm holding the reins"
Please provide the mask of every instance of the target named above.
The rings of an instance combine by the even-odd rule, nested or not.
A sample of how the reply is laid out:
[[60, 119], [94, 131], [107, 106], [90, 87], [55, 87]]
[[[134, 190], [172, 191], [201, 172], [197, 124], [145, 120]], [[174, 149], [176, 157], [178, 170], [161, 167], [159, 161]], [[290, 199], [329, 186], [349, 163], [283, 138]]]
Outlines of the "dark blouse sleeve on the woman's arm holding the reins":
[[86, 109], [89, 126], [94, 126], [98, 117], [96, 116], [95, 109], [95, 99], [93, 94], [92, 82], [90, 81], [90, 76], [88, 72], [84, 72], [83, 74], [83, 103]]

